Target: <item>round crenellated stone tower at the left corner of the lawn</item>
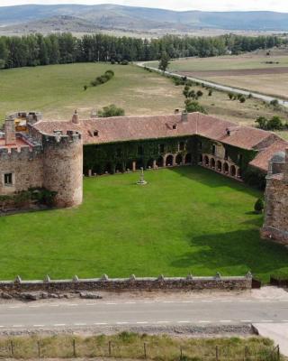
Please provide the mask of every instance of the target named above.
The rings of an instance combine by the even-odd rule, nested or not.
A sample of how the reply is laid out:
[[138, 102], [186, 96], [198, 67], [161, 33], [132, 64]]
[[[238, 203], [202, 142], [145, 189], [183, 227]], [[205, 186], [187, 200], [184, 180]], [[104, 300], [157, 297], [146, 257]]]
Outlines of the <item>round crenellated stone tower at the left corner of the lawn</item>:
[[78, 206], [83, 200], [83, 144], [81, 134], [67, 131], [43, 134], [43, 186], [57, 192], [56, 206]]

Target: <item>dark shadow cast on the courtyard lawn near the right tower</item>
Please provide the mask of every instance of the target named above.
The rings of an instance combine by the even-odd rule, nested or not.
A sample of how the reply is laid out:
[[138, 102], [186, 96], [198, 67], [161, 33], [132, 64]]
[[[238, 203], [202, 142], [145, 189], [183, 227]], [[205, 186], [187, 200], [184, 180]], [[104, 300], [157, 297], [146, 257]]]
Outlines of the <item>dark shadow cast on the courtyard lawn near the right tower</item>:
[[254, 274], [274, 273], [288, 267], [288, 252], [284, 246], [262, 240], [257, 229], [191, 236], [190, 245], [191, 252], [173, 261], [173, 267], [193, 270], [201, 266], [224, 270], [224, 273], [230, 267]]

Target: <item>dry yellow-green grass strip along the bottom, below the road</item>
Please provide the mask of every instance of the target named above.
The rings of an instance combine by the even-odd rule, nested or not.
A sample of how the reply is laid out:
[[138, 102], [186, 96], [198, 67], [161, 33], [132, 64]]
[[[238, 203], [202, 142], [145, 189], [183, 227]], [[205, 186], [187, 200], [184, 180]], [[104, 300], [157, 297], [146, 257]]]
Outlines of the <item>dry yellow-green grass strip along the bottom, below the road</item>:
[[[122, 332], [118, 335], [99, 335], [84, 337], [81, 335], [29, 336], [0, 338], [0, 357], [8, 359], [11, 355], [10, 344], [14, 344], [14, 357], [21, 359], [102, 357], [102, 359], [174, 361], [183, 359], [214, 360], [216, 347], [222, 361], [254, 361], [276, 359], [275, 345], [268, 338], [180, 338], [166, 335], [135, 334]], [[111, 342], [111, 355], [109, 355]], [[73, 347], [75, 345], [75, 351]], [[146, 355], [144, 356], [144, 343]], [[282, 359], [282, 358], [281, 358]]]

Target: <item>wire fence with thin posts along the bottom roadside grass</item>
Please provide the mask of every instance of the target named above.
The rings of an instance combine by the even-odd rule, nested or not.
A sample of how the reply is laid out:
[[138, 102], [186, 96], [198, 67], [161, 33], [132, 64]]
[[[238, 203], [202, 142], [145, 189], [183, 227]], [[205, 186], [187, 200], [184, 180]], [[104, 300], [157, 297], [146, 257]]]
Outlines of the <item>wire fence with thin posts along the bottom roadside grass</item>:
[[214, 346], [209, 342], [178, 346], [163, 342], [132, 342], [127, 345], [97, 338], [15, 338], [0, 340], [1, 358], [112, 357], [155, 361], [280, 361], [279, 346]]

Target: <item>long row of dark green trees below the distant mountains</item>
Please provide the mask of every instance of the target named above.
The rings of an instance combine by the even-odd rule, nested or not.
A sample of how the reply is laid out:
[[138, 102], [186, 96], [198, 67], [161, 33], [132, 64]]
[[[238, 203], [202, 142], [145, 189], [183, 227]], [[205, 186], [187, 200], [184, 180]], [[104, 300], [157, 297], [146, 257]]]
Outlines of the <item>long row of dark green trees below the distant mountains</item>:
[[238, 54], [279, 46], [286, 42], [276, 36], [247, 37], [234, 34], [218, 37], [177, 37], [136, 39], [105, 34], [76, 38], [71, 33], [31, 34], [22, 37], [0, 37], [0, 68], [17, 68], [83, 61], [158, 60], [168, 58], [211, 57]]

